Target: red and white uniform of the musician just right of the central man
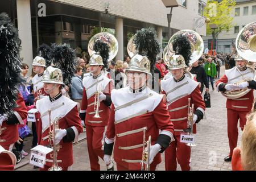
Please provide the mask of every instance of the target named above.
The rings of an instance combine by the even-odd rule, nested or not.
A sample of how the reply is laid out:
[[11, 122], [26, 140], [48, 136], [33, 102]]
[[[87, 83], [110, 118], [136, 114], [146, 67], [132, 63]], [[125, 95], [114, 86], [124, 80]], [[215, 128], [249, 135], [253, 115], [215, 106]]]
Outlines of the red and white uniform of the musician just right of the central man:
[[[199, 82], [184, 76], [179, 81], [174, 77], [161, 81], [163, 92], [167, 96], [168, 110], [175, 130], [187, 129], [188, 121], [188, 98], [191, 98], [191, 105], [194, 104], [197, 122], [203, 118], [205, 104], [200, 92]], [[196, 125], [193, 125], [196, 133]], [[166, 170], [176, 170], [177, 162], [182, 170], [189, 170], [189, 159], [191, 148], [180, 142], [180, 131], [175, 131], [175, 142], [171, 143], [165, 151]], [[176, 160], [177, 159], [177, 160]]]

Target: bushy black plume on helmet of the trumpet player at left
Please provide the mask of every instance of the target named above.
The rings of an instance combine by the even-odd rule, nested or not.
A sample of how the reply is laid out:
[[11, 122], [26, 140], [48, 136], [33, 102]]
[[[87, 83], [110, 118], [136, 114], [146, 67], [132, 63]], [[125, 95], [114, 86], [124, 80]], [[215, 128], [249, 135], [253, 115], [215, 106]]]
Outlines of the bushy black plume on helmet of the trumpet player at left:
[[76, 52], [68, 44], [52, 44], [50, 60], [63, 73], [63, 82], [69, 86], [76, 71]]

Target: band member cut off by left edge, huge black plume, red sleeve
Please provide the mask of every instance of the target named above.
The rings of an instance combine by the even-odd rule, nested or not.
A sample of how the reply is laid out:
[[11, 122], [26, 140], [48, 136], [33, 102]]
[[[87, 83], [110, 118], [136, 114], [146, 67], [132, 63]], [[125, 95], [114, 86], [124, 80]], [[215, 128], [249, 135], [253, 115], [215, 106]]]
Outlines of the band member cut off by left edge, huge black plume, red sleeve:
[[19, 139], [17, 124], [27, 118], [27, 108], [18, 89], [22, 82], [18, 32], [4, 13], [0, 24], [0, 145], [11, 151]]

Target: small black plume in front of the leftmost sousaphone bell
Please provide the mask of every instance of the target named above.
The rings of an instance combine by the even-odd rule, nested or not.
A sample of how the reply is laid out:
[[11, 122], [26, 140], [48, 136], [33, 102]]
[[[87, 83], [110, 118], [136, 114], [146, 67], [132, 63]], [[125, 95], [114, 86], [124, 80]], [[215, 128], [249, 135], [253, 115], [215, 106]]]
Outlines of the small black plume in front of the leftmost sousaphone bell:
[[96, 43], [94, 43], [93, 50], [102, 57], [104, 67], [108, 67], [109, 45], [101, 40], [97, 40]]

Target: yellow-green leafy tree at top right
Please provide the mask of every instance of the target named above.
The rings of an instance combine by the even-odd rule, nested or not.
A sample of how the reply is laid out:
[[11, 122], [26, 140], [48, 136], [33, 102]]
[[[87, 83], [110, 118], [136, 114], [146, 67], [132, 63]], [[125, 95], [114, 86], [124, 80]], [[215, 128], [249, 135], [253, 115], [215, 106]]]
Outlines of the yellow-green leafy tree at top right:
[[[235, 26], [233, 23], [233, 10], [236, 5], [235, 0], [222, 0], [213, 1], [208, 0], [207, 5], [204, 9], [205, 18], [210, 19], [210, 23], [207, 24], [207, 35], [213, 35], [214, 39], [217, 38], [218, 34], [222, 31], [229, 31], [230, 28]], [[216, 24], [217, 29], [212, 30], [210, 24]]]

